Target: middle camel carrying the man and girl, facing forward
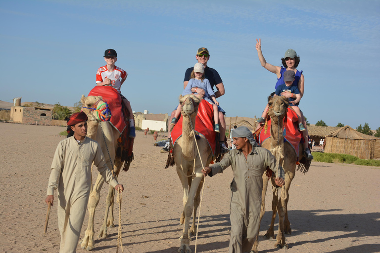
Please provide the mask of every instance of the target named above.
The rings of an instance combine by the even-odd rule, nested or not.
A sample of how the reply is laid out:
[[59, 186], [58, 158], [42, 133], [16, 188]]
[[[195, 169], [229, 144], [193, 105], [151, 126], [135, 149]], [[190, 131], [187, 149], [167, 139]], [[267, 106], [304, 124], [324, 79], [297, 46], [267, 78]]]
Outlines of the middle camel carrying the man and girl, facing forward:
[[[198, 105], [201, 99], [190, 94], [180, 96], [181, 114], [183, 117], [182, 136], [177, 139], [173, 146], [174, 162], [177, 166], [177, 174], [181, 180], [184, 189], [184, 211], [181, 214], [180, 224], [184, 224], [183, 235], [181, 236], [181, 246], [179, 253], [191, 253], [190, 233], [196, 233], [196, 210], [200, 202], [200, 190], [204, 182], [204, 176], [201, 172], [202, 164], [206, 167], [212, 160], [212, 151], [207, 140], [200, 136], [196, 142], [199, 147], [199, 153], [195, 145], [193, 129], [195, 127], [195, 116], [198, 113]], [[194, 164], [195, 163], [195, 164]], [[193, 220], [190, 226], [190, 217], [192, 212]]]

